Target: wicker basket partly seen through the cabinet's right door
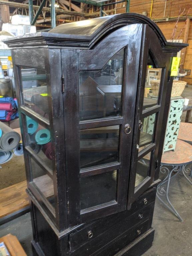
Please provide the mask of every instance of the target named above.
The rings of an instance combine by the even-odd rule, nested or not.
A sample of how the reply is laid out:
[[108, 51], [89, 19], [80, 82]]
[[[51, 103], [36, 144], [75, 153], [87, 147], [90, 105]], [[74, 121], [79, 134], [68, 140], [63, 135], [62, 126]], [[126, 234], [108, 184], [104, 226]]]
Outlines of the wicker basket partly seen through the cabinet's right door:
[[[160, 80], [151, 80], [151, 90], [154, 96], [159, 95], [159, 84]], [[173, 87], [171, 91], [171, 97], [178, 97], [181, 96], [183, 90], [185, 89], [185, 85], [187, 83], [185, 81], [177, 81], [173, 80]]]

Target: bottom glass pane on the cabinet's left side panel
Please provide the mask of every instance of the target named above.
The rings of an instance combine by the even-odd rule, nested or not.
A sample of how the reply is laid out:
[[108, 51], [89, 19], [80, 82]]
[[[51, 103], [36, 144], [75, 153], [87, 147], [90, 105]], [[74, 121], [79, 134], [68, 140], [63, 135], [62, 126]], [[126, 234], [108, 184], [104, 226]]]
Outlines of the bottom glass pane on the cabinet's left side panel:
[[50, 204], [55, 207], [53, 180], [31, 159], [32, 181], [39, 191], [44, 195]]

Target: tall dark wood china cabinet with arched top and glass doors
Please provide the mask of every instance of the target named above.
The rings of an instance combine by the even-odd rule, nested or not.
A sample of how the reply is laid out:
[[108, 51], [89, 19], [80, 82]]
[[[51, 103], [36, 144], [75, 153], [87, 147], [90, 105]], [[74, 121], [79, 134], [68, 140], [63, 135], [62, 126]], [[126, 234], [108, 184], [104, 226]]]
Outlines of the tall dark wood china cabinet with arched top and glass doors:
[[[6, 41], [12, 48], [34, 256], [139, 256], [151, 227], [172, 58], [149, 18], [106, 16]], [[151, 99], [148, 69], [157, 70]], [[29, 72], [28, 88], [23, 88]]]

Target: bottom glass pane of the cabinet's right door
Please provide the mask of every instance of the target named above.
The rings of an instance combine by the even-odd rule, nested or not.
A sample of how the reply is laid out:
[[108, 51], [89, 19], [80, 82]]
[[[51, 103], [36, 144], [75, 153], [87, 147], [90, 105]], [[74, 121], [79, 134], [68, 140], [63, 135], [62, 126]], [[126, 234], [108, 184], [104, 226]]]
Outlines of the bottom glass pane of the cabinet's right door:
[[137, 187], [146, 177], [149, 176], [150, 159], [151, 152], [137, 162], [135, 187]]

